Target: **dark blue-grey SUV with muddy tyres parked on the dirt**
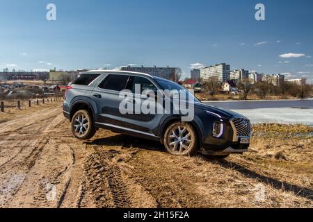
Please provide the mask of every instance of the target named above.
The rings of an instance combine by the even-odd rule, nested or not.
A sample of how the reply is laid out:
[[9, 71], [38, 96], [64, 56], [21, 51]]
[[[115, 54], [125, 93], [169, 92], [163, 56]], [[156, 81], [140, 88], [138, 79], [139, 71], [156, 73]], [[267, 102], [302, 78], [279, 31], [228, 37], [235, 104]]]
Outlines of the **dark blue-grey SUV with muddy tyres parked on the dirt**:
[[[156, 99], [160, 96], [168, 98], [163, 92], [166, 89], [186, 92], [193, 99], [193, 102], [188, 102], [194, 107], [193, 119], [184, 122], [184, 114], [172, 112], [120, 112], [120, 104], [125, 99], [120, 96], [123, 90], [128, 89], [134, 94], [134, 99], [127, 99], [133, 105], [150, 97], [138, 93], [135, 90], [137, 85], [140, 85], [141, 92], [146, 89], [159, 92]], [[67, 87], [63, 114], [70, 120], [72, 133], [78, 139], [90, 139], [96, 130], [104, 128], [159, 141], [173, 155], [193, 155], [200, 151], [204, 155], [227, 157], [231, 153], [248, 151], [250, 144], [250, 121], [246, 117], [204, 105], [187, 89], [170, 80], [131, 71], [95, 70], [81, 73]]]

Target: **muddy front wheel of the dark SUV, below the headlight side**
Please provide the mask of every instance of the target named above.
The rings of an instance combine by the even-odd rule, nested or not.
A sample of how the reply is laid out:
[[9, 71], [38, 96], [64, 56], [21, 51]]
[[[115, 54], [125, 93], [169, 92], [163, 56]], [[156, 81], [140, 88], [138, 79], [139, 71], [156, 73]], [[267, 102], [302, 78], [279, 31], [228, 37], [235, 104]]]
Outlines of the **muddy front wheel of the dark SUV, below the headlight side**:
[[198, 151], [198, 136], [189, 123], [172, 123], [164, 133], [163, 143], [172, 155], [191, 156]]

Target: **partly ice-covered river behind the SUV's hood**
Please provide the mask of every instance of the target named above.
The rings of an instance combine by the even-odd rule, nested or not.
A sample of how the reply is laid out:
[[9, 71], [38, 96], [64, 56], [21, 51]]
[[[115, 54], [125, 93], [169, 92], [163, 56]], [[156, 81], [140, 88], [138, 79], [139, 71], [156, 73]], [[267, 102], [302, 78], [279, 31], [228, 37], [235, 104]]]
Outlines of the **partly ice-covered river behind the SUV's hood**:
[[313, 99], [282, 101], [207, 101], [248, 117], [252, 123], [301, 123], [313, 126]]

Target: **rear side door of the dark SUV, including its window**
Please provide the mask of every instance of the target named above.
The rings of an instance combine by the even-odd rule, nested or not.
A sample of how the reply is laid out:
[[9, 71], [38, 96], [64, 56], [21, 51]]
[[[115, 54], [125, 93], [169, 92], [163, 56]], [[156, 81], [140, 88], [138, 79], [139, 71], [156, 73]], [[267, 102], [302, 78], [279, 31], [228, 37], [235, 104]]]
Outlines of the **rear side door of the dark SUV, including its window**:
[[92, 98], [97, 107], [95, 123], [100, 125], [120, 126], [122, 114], [119, 110], [120, 91], [125, 89], [129, 81], [128, 75], [108, 74], [102, 82], [93, 89]]

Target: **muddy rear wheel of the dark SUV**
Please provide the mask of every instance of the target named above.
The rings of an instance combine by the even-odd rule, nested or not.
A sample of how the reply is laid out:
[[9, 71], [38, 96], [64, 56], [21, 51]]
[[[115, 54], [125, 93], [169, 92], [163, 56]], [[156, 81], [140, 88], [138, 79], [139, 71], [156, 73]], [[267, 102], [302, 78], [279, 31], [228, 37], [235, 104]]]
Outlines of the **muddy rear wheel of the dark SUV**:
[[72, 133], [77, 139], [91, 139], [96, 129], [93, 126], [93, 118], [87, 110], [79, 110], [72, 117]]

